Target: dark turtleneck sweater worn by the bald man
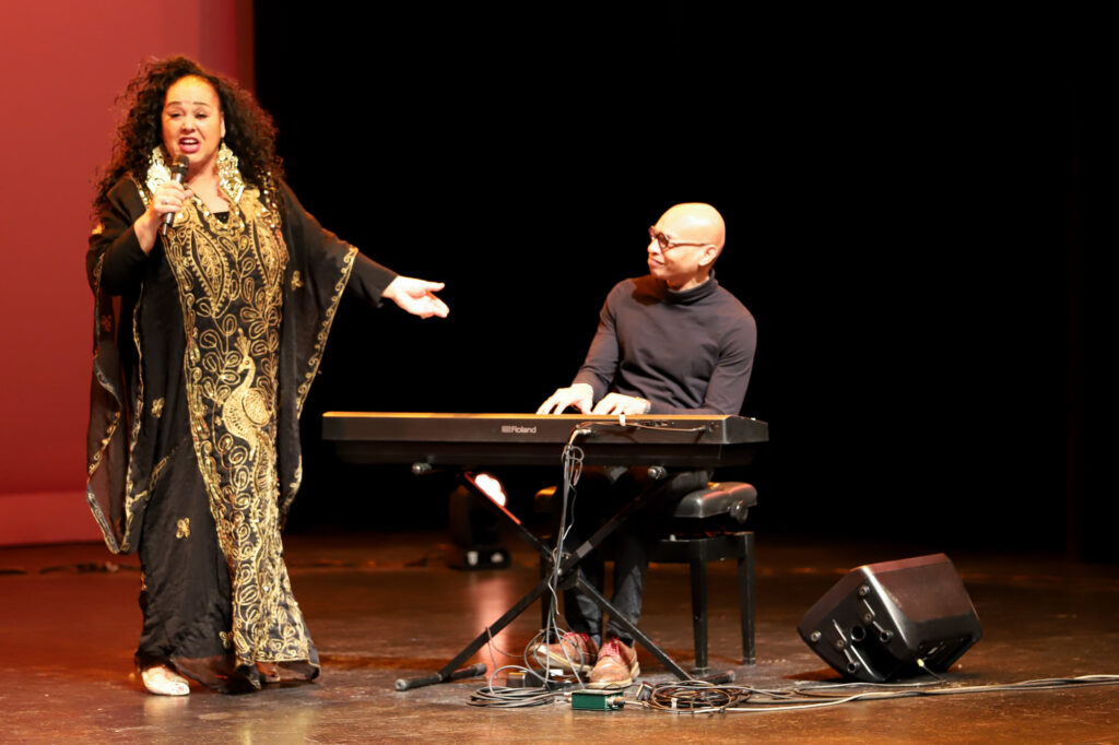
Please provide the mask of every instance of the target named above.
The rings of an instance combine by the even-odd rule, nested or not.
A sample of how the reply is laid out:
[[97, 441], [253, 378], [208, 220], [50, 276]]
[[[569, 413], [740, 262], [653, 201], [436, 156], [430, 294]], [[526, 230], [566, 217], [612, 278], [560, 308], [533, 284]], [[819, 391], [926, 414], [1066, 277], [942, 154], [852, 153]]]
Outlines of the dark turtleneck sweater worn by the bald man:
[[574, 383], [594, 400], [615, 392], [648, 398], [651, 414], [737, 414], [750, 383], [758, 328], [716, 282], [676, 292], [651, 275], [618, 283]]

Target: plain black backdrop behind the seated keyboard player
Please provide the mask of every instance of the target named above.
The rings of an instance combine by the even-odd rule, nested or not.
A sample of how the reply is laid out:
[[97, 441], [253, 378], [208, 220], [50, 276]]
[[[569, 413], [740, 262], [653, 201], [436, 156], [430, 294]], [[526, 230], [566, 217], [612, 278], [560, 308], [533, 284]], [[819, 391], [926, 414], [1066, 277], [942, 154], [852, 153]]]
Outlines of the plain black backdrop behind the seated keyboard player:
[[1093, 19], [256, 13], [304, 205], [452, 307], [340, 313], [294, 529], [429, 525], [416, 499], [446, 484], [337, 464], [319, 413], [534, 409], [642, 273], [646, 226], [700, 200], [759, 323], [744, 413], [773, 442], [737, 474], [759, 529], [1116, 556], [1115, 60]]

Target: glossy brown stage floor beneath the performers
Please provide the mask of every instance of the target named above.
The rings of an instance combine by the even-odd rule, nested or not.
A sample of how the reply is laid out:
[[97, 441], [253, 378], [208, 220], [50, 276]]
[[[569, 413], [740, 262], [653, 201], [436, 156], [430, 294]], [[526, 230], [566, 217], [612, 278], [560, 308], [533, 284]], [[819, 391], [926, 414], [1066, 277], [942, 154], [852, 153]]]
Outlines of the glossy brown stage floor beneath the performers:
[[[1119, 742], [1116, 686], [714, 716], [633, 705], [470, 707], [481, 679], [396, 692], [397, 678], [438, 670], [536, 581], [534, 557], [513, 543], [511, 568], [460, 572], [444, 565], [443, 540], [434, 534], [289, 538], [295, 595], [322, 656], [322, 677], [246, 696], [195, 688], [178, 699], [144, 694], [132, 671], [140, 626], [134, 557], [106, 572], [117, 557], [100, 545], [0, 549], [0, 742]], [[713, 669], [733, 669], [736, 682], [765, 688], [836, 678], [797, 635], [800, 616], [854, 566], [935, 549], [759, 536], [758, 663], [739, 663], [734, 572], [718, 565]], [[1119, 567], [1025, 554], [949, 555], [984, 639], [946, 676], [948, 685], [1119, 673]], [[533, 606], [496, 645], [519, 652], [538, 616]], [[692, 662], [684, 567], [652, 567], [642, 629], [681, 664]], [[490, 662], [488, 653], [479, 659]], [[641, 666], [643, 679], [668, 680], [645, 651]]]

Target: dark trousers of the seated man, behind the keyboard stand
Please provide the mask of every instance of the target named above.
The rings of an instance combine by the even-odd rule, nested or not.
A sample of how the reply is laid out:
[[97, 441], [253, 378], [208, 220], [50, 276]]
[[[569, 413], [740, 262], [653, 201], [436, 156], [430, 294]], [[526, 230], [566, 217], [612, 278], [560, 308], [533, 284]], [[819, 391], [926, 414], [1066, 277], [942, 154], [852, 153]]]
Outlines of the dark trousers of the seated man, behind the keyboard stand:
[[[604, 560], [614, 560], [613, 596], [610, 602], [637, 625], [645, 597], [645, 578], [649, 568], [649, 551], [660, 538], [659, 524], [667, 506], [690, 491], [700, 489], [711, 479], [711, 471], [679, 471], [667, 479], [667, 488], [655, 503], [634, 515], [614, 530], [598, 550], [579, 565], [579, 574], [587, 584], [604, 591]], [[622, 466], [586, 468], [568, 502], [567, 525], [571, 530], [564, 539], [564, 550], [572, 551], [590, 538], [595, 530], [613, 517], [626, 503], [649, 487], [645, 468]], [[571, 631], [590, 634], [595, 643], [602, 640], [602, 609], [579, 590], [564, 593], [564, 616]], [[614, 619], [606, 623], [606, 636], [617, 636], [633, 644], [633, 636]]]

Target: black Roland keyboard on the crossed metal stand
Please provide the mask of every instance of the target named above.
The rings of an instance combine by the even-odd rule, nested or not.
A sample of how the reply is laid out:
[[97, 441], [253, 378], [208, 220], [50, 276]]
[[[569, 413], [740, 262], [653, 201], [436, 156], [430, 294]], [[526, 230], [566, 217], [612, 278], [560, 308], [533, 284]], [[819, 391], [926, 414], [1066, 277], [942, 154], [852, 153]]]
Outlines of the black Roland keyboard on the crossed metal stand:
[[769, 441], [744, 416], [327, 412], [322, 438], [355, 463], [555, 465], [568, 442], [591, 465], [744, 465]]

